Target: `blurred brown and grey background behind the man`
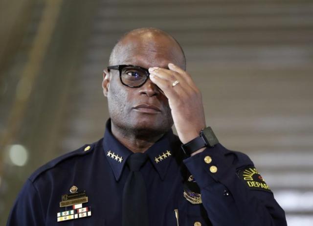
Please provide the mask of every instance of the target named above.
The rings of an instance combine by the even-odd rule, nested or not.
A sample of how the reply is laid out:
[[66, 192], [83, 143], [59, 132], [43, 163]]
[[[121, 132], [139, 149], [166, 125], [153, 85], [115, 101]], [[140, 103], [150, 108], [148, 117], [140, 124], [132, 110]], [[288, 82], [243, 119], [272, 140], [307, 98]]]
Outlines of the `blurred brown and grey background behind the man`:
[[312, 0], [0, 0], [0, 21], [0, 225], [34, 170], [103, 136], [102, 70], [138, 27], [179, 41], [207, 124], [313, 225]]

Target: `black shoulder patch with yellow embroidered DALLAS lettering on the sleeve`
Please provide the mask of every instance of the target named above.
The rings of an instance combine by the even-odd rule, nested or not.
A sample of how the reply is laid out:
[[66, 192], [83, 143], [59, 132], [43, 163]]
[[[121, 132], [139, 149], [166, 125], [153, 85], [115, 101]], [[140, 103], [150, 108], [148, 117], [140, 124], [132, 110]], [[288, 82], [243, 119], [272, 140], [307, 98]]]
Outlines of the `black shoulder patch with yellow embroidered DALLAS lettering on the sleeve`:
[[251, 190], [272, 192], [258, 170], [253, 166], [248, 166], [240, 170], [238, 176]]

